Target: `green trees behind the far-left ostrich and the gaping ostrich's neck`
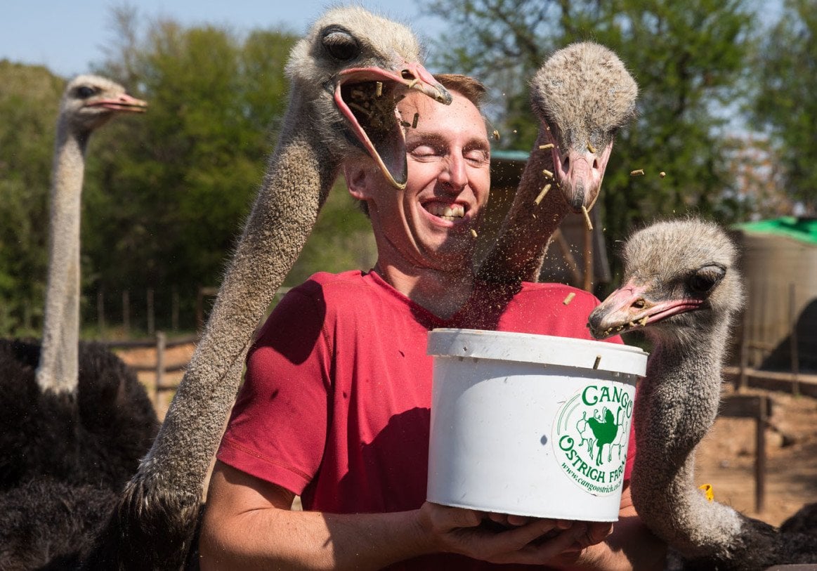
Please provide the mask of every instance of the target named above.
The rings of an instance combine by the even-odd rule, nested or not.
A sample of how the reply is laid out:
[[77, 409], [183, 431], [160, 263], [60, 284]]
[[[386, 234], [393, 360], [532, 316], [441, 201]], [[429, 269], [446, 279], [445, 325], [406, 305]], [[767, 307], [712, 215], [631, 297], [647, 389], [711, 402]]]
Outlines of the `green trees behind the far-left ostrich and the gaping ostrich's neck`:
[[[191, 327], [198, 289], [221, 282], [261, 185], [288, 104], [283, 69], [297, 37], [173, 20], [145, 26], [128, 7], [116, 9], [112, 22], [115, 39], [93, 72], [123, 83], [149, 109], [109, 123], [87, 149], [84, 320], [96, 317], [99, 290], [116, 314], [123, 291], [143, 308], [149, 288], [158, 319], [169, 317], [175, 288], [181, 325]], [[47, 191], [65, 81], [3, 61], [0, 85], [0, 334], [37, 335], [36, 309], [27, 317], [25, 308], [43, 302]], [[365, 216], [339, 185], [288, 283], [317, 270], [370, 267], [369, 235]], [[132, 317], [135, 328], [145, 323], [143, 315]]]

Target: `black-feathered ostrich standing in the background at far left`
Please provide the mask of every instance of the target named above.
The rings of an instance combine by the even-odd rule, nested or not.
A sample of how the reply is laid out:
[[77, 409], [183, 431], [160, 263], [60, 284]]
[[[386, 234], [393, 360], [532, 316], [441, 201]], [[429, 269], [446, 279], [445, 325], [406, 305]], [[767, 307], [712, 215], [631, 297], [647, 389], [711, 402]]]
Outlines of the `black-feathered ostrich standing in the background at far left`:
[[51, 176], [42, 345], [0, 341], [0, 491], [51, 477], [119, 489], [158, 430], [145, 390], [121, 360], [79, 343], [79, 224], [92, 132], [144, 101], [80, 75], [60, 102]]

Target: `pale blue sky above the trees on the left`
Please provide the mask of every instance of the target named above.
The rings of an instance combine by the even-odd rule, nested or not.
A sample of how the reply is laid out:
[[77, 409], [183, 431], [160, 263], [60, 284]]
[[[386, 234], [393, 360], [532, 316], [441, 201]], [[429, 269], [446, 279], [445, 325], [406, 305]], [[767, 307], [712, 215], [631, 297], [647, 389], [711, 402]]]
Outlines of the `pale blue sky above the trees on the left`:
[[[105, 58], [113, 39], [111, 8], [122, 0], [6, 0], [0, 12], [0, 60], [45, 65], [69, 78]], [[132, 0], [141, 18], [171, 17], [181, 24], [227, 25], [238, 31], [284, 26], [303, 33], [330, 0]], [[335, 2], [337, 3], [337, 2]], [[421, 16], [417, 0], [360, 0], [383, 16], [408, 23], [417, 35], [439, 31], [440, 22]]]

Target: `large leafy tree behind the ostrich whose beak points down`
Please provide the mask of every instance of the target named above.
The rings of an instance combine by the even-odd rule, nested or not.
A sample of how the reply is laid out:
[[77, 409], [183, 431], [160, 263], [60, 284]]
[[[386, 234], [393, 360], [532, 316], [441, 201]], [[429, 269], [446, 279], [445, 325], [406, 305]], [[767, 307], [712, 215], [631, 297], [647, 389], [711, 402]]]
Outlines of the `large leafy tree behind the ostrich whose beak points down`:
[[[657, 216], [732, 212], [721, 208], [730, 182], [722, 129], [736, 113], [730, 102], [743, 96], [754, 26], [740, 0], [682, 8], [669, 0], [435, 0], [427, 11], [452, 27], [450, 47], [436, 46], [435, 65], [474, 73], [504, 95], [489, 107], [510, 132], [503, 146], [531, 148], [538, 126], [527, 79], [558, 47], [600, 42], [632, 70], [639, 118], [618, 135], [600, 200], [610, 242]], [[646, 176], [631, 177], [638, 168]]]

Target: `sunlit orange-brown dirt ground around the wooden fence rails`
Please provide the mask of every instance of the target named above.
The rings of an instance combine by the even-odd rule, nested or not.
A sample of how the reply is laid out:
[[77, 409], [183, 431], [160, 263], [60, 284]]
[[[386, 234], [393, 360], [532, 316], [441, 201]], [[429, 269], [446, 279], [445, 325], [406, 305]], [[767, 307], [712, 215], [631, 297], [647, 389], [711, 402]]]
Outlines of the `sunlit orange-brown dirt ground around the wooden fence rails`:
[[[168, 366], [186, 364], [194, 346], [167, 350]], [[152, 349], [123, 350], [127, 364], [155, 364]], [[165, 385], [181, 381], [181, 372], [167, 373]], [[154, 372], [140, 372], [139, 379], [154, 397], [157, 414], [164, 418], [172, 390], [155, 399]], [[732, 394], [724, 386], [724, 394]], [[749, 389], [744, 394], [767, 395], [772, 415], [766, 428], [765, 507], [755, 510], [755, 421], [748, 418], [719, 417], [699, 445], [696, 480], [711, 484], [718, 502], [733, 506], [746, 515], [778, 525], [801, 506], [817, 502], [817, 399], [787, 393]]]

